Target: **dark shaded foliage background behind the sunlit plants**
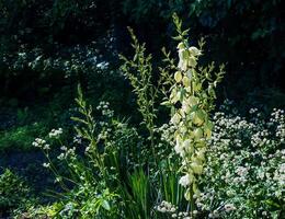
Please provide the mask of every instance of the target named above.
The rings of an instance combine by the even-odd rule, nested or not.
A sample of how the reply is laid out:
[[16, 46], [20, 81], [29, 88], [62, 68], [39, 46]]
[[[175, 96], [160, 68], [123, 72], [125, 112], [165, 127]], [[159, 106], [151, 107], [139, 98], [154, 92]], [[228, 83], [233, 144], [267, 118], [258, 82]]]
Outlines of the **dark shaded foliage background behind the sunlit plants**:
[[230, 99], [240, 112], [284, 108], [281, 0], [0, 0], [0, 166], [16, 170], [38, 191], [52, 182], [31, 143], [52, 128], [71, 136], [78, 83], [94, 106], [109, 101], [117, 115], [139, 122], [118, 70], [117, 55], [133, 55], [126, 26], [158, 66], [162, 46], [176, 53], [173, 12], [191, 28], [191, 43], [205, 37], [202, 64], [226, 64], [217, 104]]

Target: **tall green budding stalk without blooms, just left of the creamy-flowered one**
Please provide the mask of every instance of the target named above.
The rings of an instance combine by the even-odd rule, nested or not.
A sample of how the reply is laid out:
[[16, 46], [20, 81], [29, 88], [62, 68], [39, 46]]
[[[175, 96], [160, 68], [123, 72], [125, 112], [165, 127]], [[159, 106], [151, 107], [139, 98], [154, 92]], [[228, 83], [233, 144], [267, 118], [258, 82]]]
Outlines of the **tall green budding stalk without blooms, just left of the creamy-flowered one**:
[[128, 59], [123, 55], [119, 55], [121, 60], [124, 64], [121, 67], [122, 72], [129, 80], [134, 93], [137, 95], [138, 111], [142, 116], [142, 124], [146, 126], [149, 132], [150, 150], [155, 163], [158, 163], [158, 158], [155, 149], [155, 119], [157, 118], [157, 108], [155, 106], [158, 97], [160, 82], [157, 84], [152, 82], [152, 56], [146, 54], [145, 44], [139, 44], [134, 31], [128, 27], [130, 37], [133, 39], [133, 48], [135, 49], [135, 56], [133, 59]]

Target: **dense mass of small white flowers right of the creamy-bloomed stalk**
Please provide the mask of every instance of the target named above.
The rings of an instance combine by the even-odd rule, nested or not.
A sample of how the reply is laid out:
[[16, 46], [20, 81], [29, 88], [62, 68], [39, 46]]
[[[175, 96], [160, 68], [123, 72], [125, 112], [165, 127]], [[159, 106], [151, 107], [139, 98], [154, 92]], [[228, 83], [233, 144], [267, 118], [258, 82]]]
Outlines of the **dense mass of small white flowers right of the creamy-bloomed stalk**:
[[[251, 113], [262, 114], [255, 108]], [[285, 195], [284, 111], [274, 110], [269, 119], [220, 112], [213, 119], [206, 186], [196, 199], [197, 208], [208, 211], [208, 218], [254, 218], [254, 211], [272, 218], [274, 209], [264, 200], [282, 201]], [[250, 205], [254, 201], [260, 203], [258, 209]]]

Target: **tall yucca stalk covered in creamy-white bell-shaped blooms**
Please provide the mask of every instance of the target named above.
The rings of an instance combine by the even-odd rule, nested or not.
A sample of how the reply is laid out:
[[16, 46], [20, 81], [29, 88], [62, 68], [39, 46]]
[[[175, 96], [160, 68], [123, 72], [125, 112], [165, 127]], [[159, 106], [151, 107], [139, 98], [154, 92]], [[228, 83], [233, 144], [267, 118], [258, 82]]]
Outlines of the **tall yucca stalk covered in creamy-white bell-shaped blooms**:
[[[212, 135], [213, 124], [209, 112], [214, 108], [215, 88], [220, 82], [225, 71], [224, 66], [214, 73], [214, 64], [198, 67], [198, 58], [203, 54], [204, 41], [200, 41], [200, 48], [191, 46], [186, 38], [189, 30], [182, 31], [182, 22], [174, 14], [173, 21], [178, 31], [174, 39], [179, 41], [179, 64], [166, 55], [169, 60], [168, 70], [161, 70], [164, 84], [172, 84], [167, 93], [164, 105], [171, 107], [171, 125], [174, 126], [174, 150], [181, 157], [180, 171], [183, 176], [179, 183], [186, 188], [185, 198], [191, 204], [191, 212], [195, 209], [194, 197], [200, 195], [198, 181], [203, 174], [205, 152]], [[174, 66], [173, 66], [174, 65]], [[174, 70], [174, 76], [167, 71]], [[172, 78], [173, 77], [173, 78]]]

